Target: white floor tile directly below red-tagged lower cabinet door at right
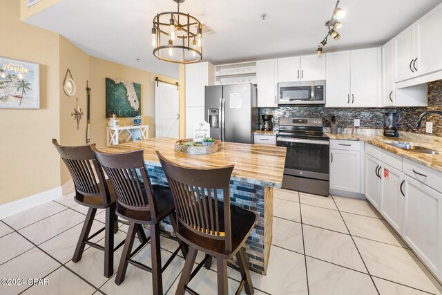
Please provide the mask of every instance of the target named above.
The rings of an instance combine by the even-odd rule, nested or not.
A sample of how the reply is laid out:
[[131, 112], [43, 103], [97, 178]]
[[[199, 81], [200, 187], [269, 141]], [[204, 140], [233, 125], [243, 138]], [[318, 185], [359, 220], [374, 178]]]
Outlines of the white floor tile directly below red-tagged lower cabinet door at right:
[[345, 224], [347, 225], [350, 234], [362, 238], [369, 238], [379, 242], [386, 242], [387, 244], [407, 247], [403, 240], [394, 232], [394, 229], [378, 218], [371, 218], [365, 216], [357, 216], [352, 213], [342, 212]]

